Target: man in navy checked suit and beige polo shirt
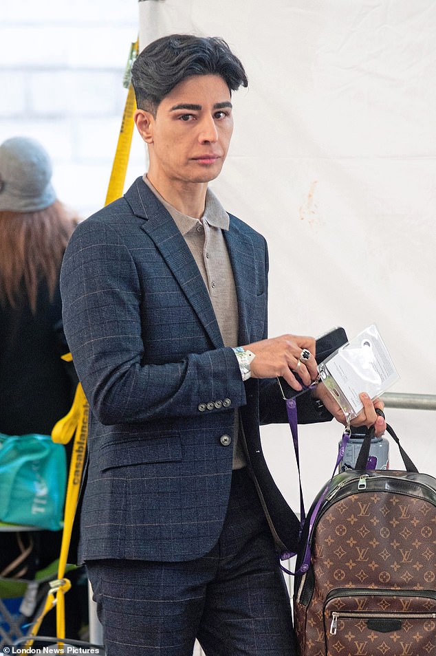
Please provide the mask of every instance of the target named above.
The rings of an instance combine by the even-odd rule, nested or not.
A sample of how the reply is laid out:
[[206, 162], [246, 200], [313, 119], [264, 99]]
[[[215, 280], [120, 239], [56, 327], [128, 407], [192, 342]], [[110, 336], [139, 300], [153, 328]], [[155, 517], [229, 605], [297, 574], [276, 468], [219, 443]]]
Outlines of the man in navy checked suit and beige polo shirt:
[[[259, 422], [286, 421], [275, 377], [310, 384], [315, 342], [267, 338], [265, 239], [208, 189], [247, 84], [220, 39], [146, 47], [133, 86], [149, 171], [65, 254], [65, 334], [90, 405], [80, 558], [107, 656], [190, 656], [196, 637], [208, 656], [294, 654], [278, 551], [298, 523]], [[363, 401], [355, 423], [372, 424]], [[298, 397], [301, 422], [326, 408], [343, 419], [323, 386]]]

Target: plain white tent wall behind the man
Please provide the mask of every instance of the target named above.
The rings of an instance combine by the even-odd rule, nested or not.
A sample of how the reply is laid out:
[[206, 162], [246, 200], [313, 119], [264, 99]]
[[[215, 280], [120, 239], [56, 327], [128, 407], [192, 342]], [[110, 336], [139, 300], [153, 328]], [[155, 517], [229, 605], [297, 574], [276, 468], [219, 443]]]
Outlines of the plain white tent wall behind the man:
[[[436, 393], [436, 2], [142, 0], [140, 47], [222, 36], [250, 86], [211, 184], [270, 248], [270, 336], [349, 337], [376, 323], [400, 373]], [[387, 411], [436, 474], [435, 413]], [[307, 503], [330, 476], [340, 426], [301, 427]], [[298, 507], [289, 428], [263, 428], [270, 468]], [[400, 457], [391, 444], [391, 468]]]

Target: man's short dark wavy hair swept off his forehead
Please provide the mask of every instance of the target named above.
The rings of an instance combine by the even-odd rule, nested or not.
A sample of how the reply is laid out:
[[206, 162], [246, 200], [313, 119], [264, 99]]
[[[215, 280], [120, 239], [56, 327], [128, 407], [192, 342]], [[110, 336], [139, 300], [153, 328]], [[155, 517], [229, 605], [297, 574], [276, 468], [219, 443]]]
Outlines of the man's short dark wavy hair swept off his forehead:
[[247, 87], [241, 61], [217, 36], [171, 34], [147, 45], [132, 68], [136, 105], [155, 116], [162, 98], [193, 75], [220, 75], [230, 93]]

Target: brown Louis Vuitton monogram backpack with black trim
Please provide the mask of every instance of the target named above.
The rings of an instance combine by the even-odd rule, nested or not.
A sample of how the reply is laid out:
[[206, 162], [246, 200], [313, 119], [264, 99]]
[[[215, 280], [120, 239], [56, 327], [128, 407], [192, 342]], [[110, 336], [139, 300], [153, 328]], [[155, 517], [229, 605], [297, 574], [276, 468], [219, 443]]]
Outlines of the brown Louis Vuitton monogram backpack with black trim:
[[435, 493], [402, 473], [350, 483], [321, 512], [296, 582], [302, 656], [436, 656]]

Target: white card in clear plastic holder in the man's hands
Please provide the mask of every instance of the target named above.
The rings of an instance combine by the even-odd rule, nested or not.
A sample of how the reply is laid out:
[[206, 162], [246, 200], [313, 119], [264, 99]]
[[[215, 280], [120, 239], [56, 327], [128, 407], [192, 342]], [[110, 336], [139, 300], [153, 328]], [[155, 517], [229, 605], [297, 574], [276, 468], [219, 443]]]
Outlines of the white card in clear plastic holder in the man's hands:
[[375, 399], [400, 378], [375, 325], [321, 362], [318, 373], [351, 419], [362, 410], [361, 392]]

